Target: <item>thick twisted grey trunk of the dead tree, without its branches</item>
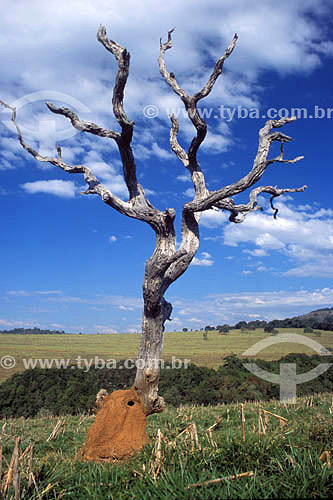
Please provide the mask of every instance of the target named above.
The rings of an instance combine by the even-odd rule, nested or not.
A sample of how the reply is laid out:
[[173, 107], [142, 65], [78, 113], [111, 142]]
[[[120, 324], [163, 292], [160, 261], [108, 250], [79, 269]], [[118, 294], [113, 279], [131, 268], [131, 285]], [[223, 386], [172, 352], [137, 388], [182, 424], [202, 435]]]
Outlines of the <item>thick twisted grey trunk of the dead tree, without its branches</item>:
[[174, 211], [166, 211], [163, 223], [156, 229], [156, 246], [146, 261], [143, 281], [142, 335], [137, 359], [134, 388], [139, 392], [147, 415], [164, 410], [164, 399], [158, 396], [160, 359], [164, 325], [171, 320], [172, 305], [164, 294], [189, 267], [199, 248], [199, 214], [183, 210], [182, 243], [176, 250]]

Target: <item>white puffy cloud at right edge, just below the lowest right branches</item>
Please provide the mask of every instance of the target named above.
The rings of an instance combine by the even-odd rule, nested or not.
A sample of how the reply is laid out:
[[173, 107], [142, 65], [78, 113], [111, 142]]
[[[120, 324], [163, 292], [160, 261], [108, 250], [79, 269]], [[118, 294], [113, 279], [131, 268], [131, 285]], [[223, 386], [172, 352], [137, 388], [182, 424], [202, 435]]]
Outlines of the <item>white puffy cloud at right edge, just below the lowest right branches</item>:
[[[292, 268], [286, 276], [333, 277], [333, 216], [327, 209], [294, 208], [284, 202], [278, 219], [253, 212], [242, 224], [224, 227], [224, 243], [253, 245], [244, 252], [263, 257], [273, 251], [287, 256]], [[311, 210], [311, 211], [310, 211]]]

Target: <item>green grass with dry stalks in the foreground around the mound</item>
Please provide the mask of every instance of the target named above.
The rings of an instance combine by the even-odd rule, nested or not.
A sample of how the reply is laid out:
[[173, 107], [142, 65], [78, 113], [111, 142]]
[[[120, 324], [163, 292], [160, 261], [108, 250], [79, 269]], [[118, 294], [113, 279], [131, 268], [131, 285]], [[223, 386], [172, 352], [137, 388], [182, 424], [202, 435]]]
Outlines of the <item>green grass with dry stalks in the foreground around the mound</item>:
[[[68, 417], [62, 432], [46, 441], [57, 419], [0, 422], [3, 454], [10, 460], [15, 437], [21, 448], [34, 445], [32, 466], [20, 461], [21, 498], [75, 500], [179, 500], [238, 498], [329, 498], [333, 493], [333, 469], [320, 460], [324, 451], [332, 458], [332, 394], [299, 399], [296, 405], [279, 402], [245, 403], [246, 440], [242, 439], [240, 405], [169, 408], [147, 419], [151, 444], [133, 460], [118, 464], [82, 463], [75, 454], [94, 417]], [[288, 419], [285, 426], [270, 417], [266, 434], [258, 435], [259, 407]], [[213, 432], [206, 430], [222, 417]], [[197, 427], [199, 446], [189, 434], [177, 438], [188, 424]], [[1, 427], [0, 427], [1, 429]], [[163, 434], [160, 471], [153, 473], [157, 430]], [[172, 444], [173, 443], [173, 444]], [[333, 461], [333, 460], [332, 460]], [[7, 469], [3, 461], [3, 469]], [[35, 483], [27, 489], [28, 473]], [[253, 471], [253, 477], [232, 481], [231, 475]], [[191, 483], [224, 477], [223, 482], [187, 489]], [[3, 480], [5, 475], [3, 476]], [[13, 495], [12, 486], [9, 497]], [[14, 497], [13, 497], [14, 498]]]

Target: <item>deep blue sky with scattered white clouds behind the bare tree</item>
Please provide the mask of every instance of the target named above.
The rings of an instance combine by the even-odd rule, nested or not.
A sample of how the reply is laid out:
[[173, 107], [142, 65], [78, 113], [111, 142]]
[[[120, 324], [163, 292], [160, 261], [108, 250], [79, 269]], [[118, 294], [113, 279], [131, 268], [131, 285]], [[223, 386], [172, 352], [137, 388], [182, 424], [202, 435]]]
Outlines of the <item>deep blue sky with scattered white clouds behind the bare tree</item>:
[[[174, 306], [167, 330], [283, 318], [332, 306], [330, 3], [3, 0], [0, 98], [16, 104], [26, 141], [44, 153], [61, 144], [67, 162], [88, 165], [124, 199], [114, 144], [71, 129], [65, 118], [50, 116], [43, 103], [66, 105], [83, 119], [118, 130], [110, 105], [116, 66], [96, 40], [98, 25], [105, 24], [108, 35], [128, 48], [125, 109], [136, 122], [138, 176], [155, 206], [177, 210], [178, 229], [182, 204], [193, 193], [187, 172], [168, 146], [168, 112], [181, 108], [157, 66], [159, 39], [166, 38], [168, 29], [176, 26], [167, 67], [190, 93], [202, 87], [233, 34], [239, 35], [224, 74], [201, 104], [211, 113], [199, 154], [210, 189], [250, 170], [268, 110], [304, 108], [313, 116], [283, 129], [294, 138], [286, 157], [304, 155], [304, 160], [271, 165], [259, 183], [306, 184], [308, 189], [276, 201], [277, 220], [267, 199], [261, 200], [264, 211], [250, 214], [242, 224], [229, 223], [222, 212], [205, 213], [197, 257], [167, 292]], [[221, 106], [234, 110], [232, 120], [228, 114], [221, 118]], [[147, 110], [157, 116], [145, 116]], [[250, 110], [255, 117], [244, 118]], [[141, 284], [154, 246], [152, 230], [99, 198], [80, 195], [80, 175], [29, 157], [8, 119], [2, 111], [0, 329], [140, 331]], [[179, 119], [186, 147], [194, 129], [181, 111]], [[237, 201], [246, 199], [243, 194]]]

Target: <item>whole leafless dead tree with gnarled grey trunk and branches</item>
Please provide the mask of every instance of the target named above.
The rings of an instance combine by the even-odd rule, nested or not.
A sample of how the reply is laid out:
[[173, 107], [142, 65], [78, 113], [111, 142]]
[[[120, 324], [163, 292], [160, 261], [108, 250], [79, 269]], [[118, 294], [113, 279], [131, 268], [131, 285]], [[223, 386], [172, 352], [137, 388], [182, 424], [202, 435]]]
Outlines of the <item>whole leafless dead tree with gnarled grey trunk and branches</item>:
[[[158, 395], [159, 359], [162, 352], [163, 331], [166, 320], [170, 319], [172, 306], [164, 298], [169, 286], [177, 280], [189, 267], [199, 247], [199, 220], [205, 210], [220, 209], [230, 212], [229, 220], [233, 223], [242, 222], [246, 215], [261, 207], [257, 203], [260, 194], [271, 195], [271, 206], [276, 217], [277, 209], [273, 206], [273, 200], [284, 193], [304, 191], [301, 188], [282, 188], [274, 186], [261, 186], [249, 192], [249, 201], [246, 204], [237, 205], [234, 201], [235, 195], [251, 188], [263, 176], [266, 168], [274, 162], [295, 163], [301, 158], [284, 159], [284, 143], [292, 139], [279, 132], [283, 125], [293, 122], [296, 118], [283, 118], [280, 120], [269, 120], [259, 131], [259, 142], [256, 157], [248, 174], [233, 184], [224, 186], [216, 191], [210, 191], [205, 182], [204, 174], [198, 163], [198, 150], [203, 143], [207, 124], [199, 115], [197, 105], [201, 99], [209, 95], [218, 77], [222, 73], [225, 60], [232, 54], [237, 35], [234, 36], [223, 56], [218, 59], [216, 65], [205, 86], [194, 95], [189, 95], [180, 87], [173, 73], [169, 73], [165, 65], [165, 53], [172, 47], [172, 32], [169, 31], [165, 43], [160, 42], [160, 55], [158, 58], [159, 69], [165, 82], [177, 94], [187, 110], [188, 117], [194, 125], [195, 136], [187, 151], [178, 142], [179, 122], [175, 116], [170, 116], [170, 147], [184, 167], [189, 171], [195, 195], [192, 201], [184, 204], [182, 209], [181, 244], [176, 248], [176, 232], [174, 226], [175, 210], [167, 208], [161, 211], [154, 207], [148, 200], [142, 186], [139, 184], [136, 174], [136, 165], [131, 147], [134, 122], [131, 121], [123, 106], [124, 90], [129, 74], [130, 54], [118, 43], [107, 38], [106, 29], [100, 26], [97, 39], [106, 50], [111, 52], [118, 64], [118, 72], [113, 88], [113, 113], [120, 125], [120, 132], [103, 128], [95, 123], [83, 121], [72, 110], [66, 107], [57, 107], [47, 103], [52, 113], [68, 118], [72, 126], [81, 131], [96, 136], [111, 139], [118, 146], [123, 166], [123, 175], [126, 182], [129, 199], [123, 201], [107, 189], [85, 165], [69, 165], [62, 158], [61, 147], [57, 147], [56, 157], [41, 156], [30, 147], [23, 139], [20, 127], [16, 121], [16, 110], [0, 101], [2, 105], [12, 111], [12, 121], [16, 127], [17, 137], [21, 146], [40, 162], [48, 162], [70, 174], [83, 174], [87, 183], [87, 189], [82, 194], [94, 194], [102, 198], [104, 203], [127, 217], [138, 219], [149, 224], [156, 234], [156, 245], [152, 256], [146, 261], [145, 276], [143, 282], [143, 317], [142, 337], [138, 353], [138, 368], [134, 381], [134, 389], [142, 398], [144, 412], [146, 415], [157, 413], [165, 407], [164, 400]], [[271, 144], [280, 143], [280, 154], [268, 158]]]

